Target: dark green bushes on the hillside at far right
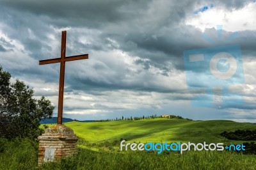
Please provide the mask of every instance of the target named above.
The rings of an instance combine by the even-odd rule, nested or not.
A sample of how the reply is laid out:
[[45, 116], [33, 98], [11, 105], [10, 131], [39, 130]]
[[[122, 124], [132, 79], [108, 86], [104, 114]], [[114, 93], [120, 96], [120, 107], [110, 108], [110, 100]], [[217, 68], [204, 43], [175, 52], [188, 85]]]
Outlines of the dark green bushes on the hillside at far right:
[[222, 132], [220, 135], [227, 137], [227, 139], [237, 141], [256, 141], [255, 130], [236, 130], [235, 132]]

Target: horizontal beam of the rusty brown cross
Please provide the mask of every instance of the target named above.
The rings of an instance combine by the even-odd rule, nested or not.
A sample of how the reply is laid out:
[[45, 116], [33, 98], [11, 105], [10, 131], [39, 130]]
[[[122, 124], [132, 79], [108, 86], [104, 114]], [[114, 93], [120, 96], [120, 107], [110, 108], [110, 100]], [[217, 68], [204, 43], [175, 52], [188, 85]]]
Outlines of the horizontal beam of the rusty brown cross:
[[62, 60], [63, 61], [75, 61], [78, 59], [88, 59], [89, 55], [88, 54], [82, 54], [82, 55], [78, 55], [78, 56], [71, 56], [71, 57], [65, 57], [65, 58], [54, 58], [54, 59], [45, 59], [45, 60], [41, 60], [39, 61], [39, 65], [47, 65], [47, 64], [51, 64], [51, 63], [60, 63]]

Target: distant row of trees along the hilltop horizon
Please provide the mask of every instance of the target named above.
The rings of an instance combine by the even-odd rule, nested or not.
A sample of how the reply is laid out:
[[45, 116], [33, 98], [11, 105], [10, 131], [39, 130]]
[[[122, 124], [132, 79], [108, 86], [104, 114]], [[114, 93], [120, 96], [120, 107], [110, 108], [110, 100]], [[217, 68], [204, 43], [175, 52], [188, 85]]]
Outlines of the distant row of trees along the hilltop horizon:
[[[156, 114], [152, 114], [152, 116], [134, 116], [134, 117], [129, 117], [129, 118], [124, 118], [124, 116], [122, 116], [122, 118], [115, 118], [115, 119], [107, 119], [107, 120], [93, 120], [95, 122], [102, 122], [102, 121], [120, 121], [120, 120], [150, 120], [150, 119], [156, 119], [156, 118], [167, 118], [167, 119], [180, 119], [180, 120], [189, 120], [189, 121], [193, 121], [191, 119], [188, 118], [182, 118], [182, 116], [175, 116], [175, 115], [160, 115], [157, 116]], [[76, 121], [76, 120], [75, 120]]]

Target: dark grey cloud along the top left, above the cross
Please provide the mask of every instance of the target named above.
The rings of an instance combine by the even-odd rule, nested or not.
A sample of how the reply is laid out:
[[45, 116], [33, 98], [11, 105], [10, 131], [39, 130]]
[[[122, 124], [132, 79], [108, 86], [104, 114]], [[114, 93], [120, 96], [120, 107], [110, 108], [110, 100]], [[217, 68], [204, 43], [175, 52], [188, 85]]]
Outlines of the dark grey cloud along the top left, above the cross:
[[[136, 17], [138, 9], [147, 8], [146, 1], [1, 1], [4, 6], [36, 15], [54, 18], [51, 24], [95, 27], [106, 22]], [[148, 1], [147, 1], [148, 2]], [[134, 5], [134, 3], [136, 5]], [[126, 10], [127, 9], [127, 10]]]

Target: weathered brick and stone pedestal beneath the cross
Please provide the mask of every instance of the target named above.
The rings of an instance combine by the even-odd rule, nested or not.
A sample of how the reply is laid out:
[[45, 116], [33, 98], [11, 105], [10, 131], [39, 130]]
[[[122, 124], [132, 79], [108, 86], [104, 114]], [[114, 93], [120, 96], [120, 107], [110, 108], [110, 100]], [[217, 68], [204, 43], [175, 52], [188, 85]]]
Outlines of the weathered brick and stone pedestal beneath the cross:
[[77, 153], [78, 137], [71, 128], [64, 125], [46, 128], [45, 133], [40, 135], [38, 140], [38, 165]]

